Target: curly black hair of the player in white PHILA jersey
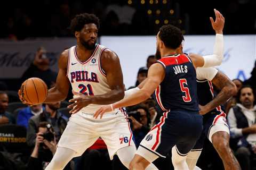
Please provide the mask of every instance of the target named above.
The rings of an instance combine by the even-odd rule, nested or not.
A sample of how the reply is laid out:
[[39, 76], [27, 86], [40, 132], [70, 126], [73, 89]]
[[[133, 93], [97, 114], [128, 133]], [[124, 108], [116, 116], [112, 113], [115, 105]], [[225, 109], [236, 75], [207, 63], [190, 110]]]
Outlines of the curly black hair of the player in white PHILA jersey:
[[81, 31], [84, 28], [84, 25], [89, 23], [94, 23], [95, 25], [97, 25], [98, 29], [100, 27], [100, 20], [96, 15], [88, 13], [78, 14], [71, 21], [71, 32], [75, 34], [75, 31]]

